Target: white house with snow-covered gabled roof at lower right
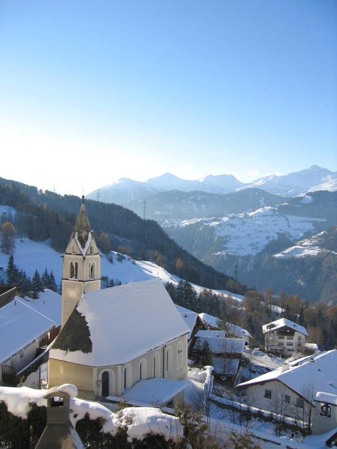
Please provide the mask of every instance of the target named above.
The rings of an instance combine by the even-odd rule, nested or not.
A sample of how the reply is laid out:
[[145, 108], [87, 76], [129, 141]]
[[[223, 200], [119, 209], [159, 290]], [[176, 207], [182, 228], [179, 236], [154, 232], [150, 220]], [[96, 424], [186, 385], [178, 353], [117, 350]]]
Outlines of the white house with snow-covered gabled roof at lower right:
[[280, 368], [237, 385], [250, 389], [254, 407], [273, 411], [277, 400], [287, 404], [285, 414], [298, 418], [305, 405], [314, 409], [313, 399], [318, 391], [335, 395], [337, 392], [337, 350], [303, 357]]

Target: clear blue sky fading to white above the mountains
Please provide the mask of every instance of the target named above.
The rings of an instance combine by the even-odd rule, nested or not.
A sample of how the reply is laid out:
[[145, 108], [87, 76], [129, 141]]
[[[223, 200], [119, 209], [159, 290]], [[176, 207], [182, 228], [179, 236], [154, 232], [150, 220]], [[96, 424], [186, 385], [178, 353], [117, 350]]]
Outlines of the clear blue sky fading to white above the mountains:
[[0, 0], [0, 176], [337, 170], [337, 2]]

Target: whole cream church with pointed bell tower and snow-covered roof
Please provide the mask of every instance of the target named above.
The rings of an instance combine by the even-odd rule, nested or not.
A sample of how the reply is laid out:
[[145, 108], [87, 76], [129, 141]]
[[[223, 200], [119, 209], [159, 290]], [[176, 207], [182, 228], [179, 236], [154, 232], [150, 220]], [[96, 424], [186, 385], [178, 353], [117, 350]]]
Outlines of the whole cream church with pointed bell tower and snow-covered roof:
[[49, 388], [74, 384], [90, 400], [181, 398], [190, 329], [160, 279], [100, 289], [84, 197], [62, 257], [62, 328], [49, 353]]

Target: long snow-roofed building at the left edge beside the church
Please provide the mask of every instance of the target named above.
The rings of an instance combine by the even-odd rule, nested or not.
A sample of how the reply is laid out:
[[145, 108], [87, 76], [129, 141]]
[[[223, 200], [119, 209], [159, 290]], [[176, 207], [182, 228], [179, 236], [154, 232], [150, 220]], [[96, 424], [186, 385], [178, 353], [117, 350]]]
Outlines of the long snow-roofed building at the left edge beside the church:
[[37, 299], [15, 296], [2, 306], [0, 341], [6, 344], [0, 345], [0, 381], [17, 385], [38, 349], [56, 337], [60, 321], [61, 297], [49, 289]]

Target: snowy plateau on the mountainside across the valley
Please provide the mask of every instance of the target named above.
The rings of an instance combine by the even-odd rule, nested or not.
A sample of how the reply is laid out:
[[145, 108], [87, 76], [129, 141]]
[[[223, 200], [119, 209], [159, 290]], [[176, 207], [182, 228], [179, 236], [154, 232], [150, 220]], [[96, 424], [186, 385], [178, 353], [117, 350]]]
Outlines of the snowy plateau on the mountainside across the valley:
[[189, 226], [199, 223], [200, 229], [215, 229], [216, 235], [222, 237], [222, 248], [215, 255], [237, 254], [255, 255], [272, 240], [277, 240], [280, 233], [291, 240], [298, 240], [308, 231], [315, 231], [315, 223], [325, 221], [309, 217], [297, 217], [281, 214], [277, 208], [270, 206], [257, 209], [249, 214], [230, 214], [220, 219], [201, 218], [184, 221], [167, 220], [163, 227]]

